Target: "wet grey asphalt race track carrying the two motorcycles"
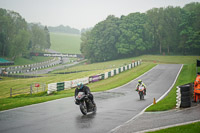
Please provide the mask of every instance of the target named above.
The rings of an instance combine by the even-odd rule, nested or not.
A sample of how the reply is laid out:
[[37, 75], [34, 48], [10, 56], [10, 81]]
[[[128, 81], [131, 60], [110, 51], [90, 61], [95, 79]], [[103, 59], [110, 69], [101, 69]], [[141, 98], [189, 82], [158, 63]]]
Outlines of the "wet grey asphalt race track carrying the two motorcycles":
[[173, 84], [180, 64], [157, 65], [140, 77], [147, 96], [140, 101], [137, 80], [94, 94], [97, 113], [83, 116], [74, 97], [0, 112], [0, 133], [106, 133], [139, 114]]

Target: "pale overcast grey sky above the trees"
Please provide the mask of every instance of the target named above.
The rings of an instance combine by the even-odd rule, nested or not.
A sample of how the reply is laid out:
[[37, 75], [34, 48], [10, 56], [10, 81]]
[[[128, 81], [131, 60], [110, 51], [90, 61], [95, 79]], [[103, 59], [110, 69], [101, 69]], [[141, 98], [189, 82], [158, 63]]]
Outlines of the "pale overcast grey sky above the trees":
[[108, 15], [146, 12], [154, 7], [180, 6], [200, 0], [0, 0], [0, 8], [18, 12], [27, 22], [42, 25], [93, 27]]

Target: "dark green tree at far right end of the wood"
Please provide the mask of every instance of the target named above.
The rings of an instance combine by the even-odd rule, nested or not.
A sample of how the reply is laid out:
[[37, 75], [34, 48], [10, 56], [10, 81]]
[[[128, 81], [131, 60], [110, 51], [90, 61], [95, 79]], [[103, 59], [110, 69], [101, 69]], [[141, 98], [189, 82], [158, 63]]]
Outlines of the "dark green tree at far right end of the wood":
[[200, 4], [190, 3], [182, 10], [179, 48], [183, 54], [199, 54], [200, 51]]

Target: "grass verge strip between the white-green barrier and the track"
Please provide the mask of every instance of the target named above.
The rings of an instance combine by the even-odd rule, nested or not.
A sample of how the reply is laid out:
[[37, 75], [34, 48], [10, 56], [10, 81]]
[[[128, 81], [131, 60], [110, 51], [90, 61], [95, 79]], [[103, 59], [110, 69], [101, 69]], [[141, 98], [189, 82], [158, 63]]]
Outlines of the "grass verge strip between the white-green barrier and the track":
[[[89, 84], [92, 92], [97, 91], [104, 91], [108, 89], [112, 89], [114, 87], [121, 86], [134, 78], [138, 77], [139, 75], [143, 74], [144, 72], [150, 70], [155, 64], [143, 63], [142, 65], [125, 71], [121, 74], [118, 74], [114, 77], [111, 77], [106, 80], [102, 80], [96, 83]], [[136, 72], [137, 71], [137, 72]], [[69, 97], [74, 95], [74, 89], [60, 91], [54, 93], [53, 95], [48, 96], [46, 92], [36, 94], [36, 95], [20, 95], [13, 98], [0, 98], [0, 111], [12, 109], [16, 107], [41, 103], [49, 100]]]

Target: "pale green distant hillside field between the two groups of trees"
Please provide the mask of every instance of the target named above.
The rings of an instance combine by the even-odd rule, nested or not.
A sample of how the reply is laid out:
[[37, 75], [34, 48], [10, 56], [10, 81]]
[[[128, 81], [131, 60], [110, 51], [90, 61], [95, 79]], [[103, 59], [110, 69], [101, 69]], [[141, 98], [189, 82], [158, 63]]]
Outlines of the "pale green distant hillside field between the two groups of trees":
[[50, 33], [52, 50], [61, 53], [80, 54], [81, 36], [65, 33]]

